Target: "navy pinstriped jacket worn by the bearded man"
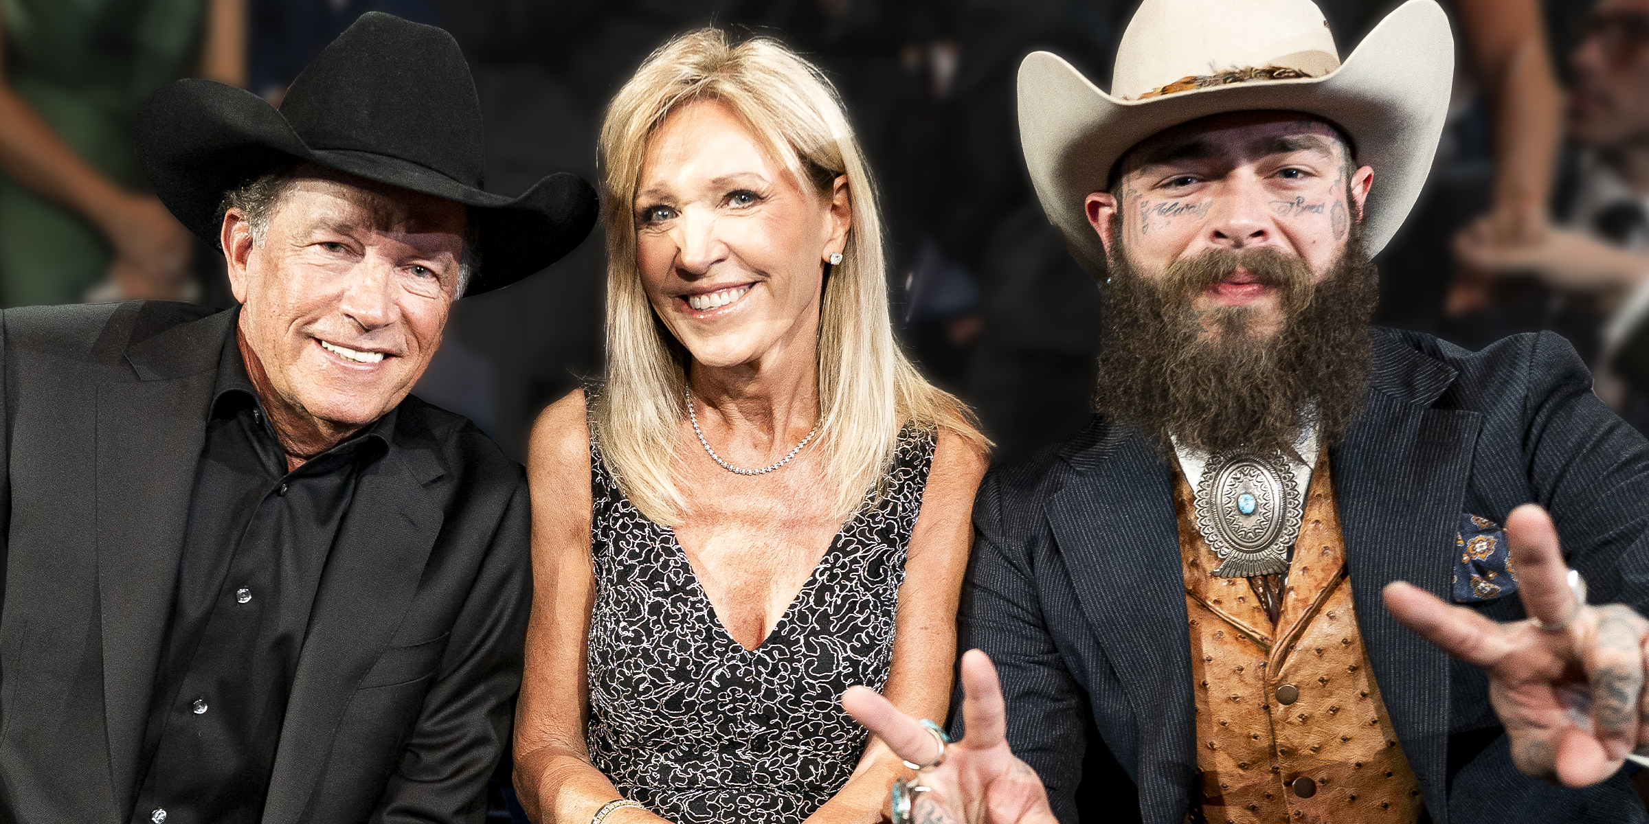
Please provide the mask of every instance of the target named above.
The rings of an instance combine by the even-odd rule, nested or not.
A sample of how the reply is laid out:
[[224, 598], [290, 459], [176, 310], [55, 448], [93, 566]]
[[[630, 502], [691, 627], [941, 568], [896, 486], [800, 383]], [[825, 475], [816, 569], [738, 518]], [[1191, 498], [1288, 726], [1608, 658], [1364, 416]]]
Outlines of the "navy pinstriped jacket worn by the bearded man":
[[[1416, 333], [1372, 335], [1370, 387], [1329, 460], [1357, 626], [1431, 819], [1646, 821], [1624, 775], [1558, 789], [1517, 773], [1482, 672], [1402, 628], [1380, 590], [1407, 580], [1448, 600], [1459, 514], [1504, 522], [1535, 501], [1591, 602], [1644, 610], [1649, 442], [1591, 394], [1557, 335], [1476, 354]], [[1067, 824], [1078, 796], [1105, 804], [1097, 821], [1133, 817], [1138, 796], [1154, 824], [1182, 822], [1197, 798], [1172, 473], [1136, 432], [1095, 420], [993, 471], [980, 491], [963, 649], [996, 661], [1009, 743]], [[1515, 595], [1474, 608], [1524, 615]]]

